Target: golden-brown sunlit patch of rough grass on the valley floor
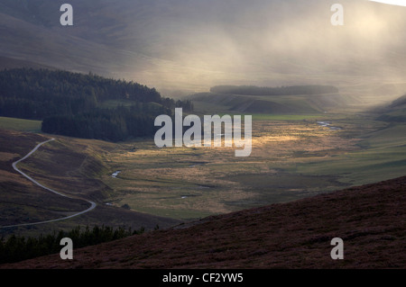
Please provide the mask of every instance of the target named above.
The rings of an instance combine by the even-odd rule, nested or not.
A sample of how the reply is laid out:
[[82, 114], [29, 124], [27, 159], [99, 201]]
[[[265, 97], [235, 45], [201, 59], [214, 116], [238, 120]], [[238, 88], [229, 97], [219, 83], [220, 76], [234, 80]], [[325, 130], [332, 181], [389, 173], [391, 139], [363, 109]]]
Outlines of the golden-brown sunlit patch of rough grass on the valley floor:
[[235, 147], [157, 148], [153, 140], [134, 141], [108, 154], [121, 173], [104, 181], [121, 194], [115, 205], [127, 203], [134, 211], [224, 213], [235, 209], [229, 202], [257, 195], [232, 176], [277, 175], [281, 166], [331, 157], [355, 149], [355, 142], [316, 122], [254, 121], [250, 157], [235, 157]]

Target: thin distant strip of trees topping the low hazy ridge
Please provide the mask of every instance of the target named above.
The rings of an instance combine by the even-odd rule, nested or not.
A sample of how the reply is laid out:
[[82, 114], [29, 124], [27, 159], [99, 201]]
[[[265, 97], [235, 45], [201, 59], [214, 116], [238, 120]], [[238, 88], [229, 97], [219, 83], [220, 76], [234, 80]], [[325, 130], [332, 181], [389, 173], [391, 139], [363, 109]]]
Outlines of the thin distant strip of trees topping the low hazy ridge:
[[290, 85], [280, 87], [255, 85], [217, 85], [210, 88], [210, 92], [216, 94], [297, 95], [338, 93], [338, 89], [333, 85]]

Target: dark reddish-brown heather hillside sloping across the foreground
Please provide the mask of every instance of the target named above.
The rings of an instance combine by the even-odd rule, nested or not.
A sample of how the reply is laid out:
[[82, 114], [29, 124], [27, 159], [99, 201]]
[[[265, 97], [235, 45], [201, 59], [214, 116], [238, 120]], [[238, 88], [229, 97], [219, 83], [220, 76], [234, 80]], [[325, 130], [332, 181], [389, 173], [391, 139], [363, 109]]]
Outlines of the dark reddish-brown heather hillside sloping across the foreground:
[[405, 222], [406, 176], [1, 267], [405, 268]]

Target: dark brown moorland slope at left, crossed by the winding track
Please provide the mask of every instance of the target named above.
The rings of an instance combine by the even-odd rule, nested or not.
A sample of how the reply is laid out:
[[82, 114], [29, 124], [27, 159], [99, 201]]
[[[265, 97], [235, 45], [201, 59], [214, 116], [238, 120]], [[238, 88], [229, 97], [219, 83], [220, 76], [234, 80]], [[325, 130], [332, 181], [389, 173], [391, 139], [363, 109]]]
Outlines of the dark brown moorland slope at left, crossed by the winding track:
[[[95, 224], [101, 226], [125, 226], [132, 229], [153, 229], [169, 227], [177, 220], [165, 219], [115, 208], [106, 204], [106, 198], [114, 193], [98, 176], [109, 172], [99, 157], [97, 141], [56, 137], [54, 143], [45, 145], [32, 157], [23, 161], [19, 167], [41, 184], [66, 193], [75, 198], [86, 198], [97, 202], [97, 208], [80, 218], [32, 227], [0, 229], [1, 236], [9, 234], [35, 235], [52, 232], [55, 229], [71, 229], [78, 225]], [[1, 130], [0, 140], [0, 227], [14, 224], [33, 223], [42, 220], [54, 220], [68, 216], [74, 211], [86, 210], [81, 200], [61, 198], [17, 174], [12, 163], [26, 155], [39, 142], [49, 137], [32, 132]], [[18, 142], [18, 145], [15, 143]], [[90, 145], [89, 145], [90, 144]], [[94, 145], [96, 144], [96, 145]], [[103, 143], [106, 145], [106, 143]], [[108, 145], [108, 144], [107, 144]], [[94, 149], [96, 148], [96, 149]], [[110, 147], [111, 148], [111, 147]], [[69, 163], [69, 165], [66, 165]], [[108, 202], [107, 202], [108, 203]], [[86, 205], [86, 204], [85, 204]]]

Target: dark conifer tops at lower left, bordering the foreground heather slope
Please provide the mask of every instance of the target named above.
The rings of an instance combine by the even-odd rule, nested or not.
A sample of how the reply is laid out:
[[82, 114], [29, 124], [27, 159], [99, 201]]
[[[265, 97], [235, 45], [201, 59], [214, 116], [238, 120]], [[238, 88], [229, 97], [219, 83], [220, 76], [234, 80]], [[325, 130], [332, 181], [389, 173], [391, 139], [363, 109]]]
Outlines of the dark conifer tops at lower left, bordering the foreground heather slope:
[[[155, 228], [157, 229], [157, 228]], [[74, 248], [88, 247], [103, 242], [126, 238], [136, 234], [143, 234], [144, 228], [139, 230], [119, 227], [113, 229], [106, 226], [88, 226], [81, 229], [79, 226], [69, 231], [60, 230], [38, 238], [12, 235], [10, 238], [0, 238], [0, 264], [20, 262], [39, 256], [47, 256], [60, 253], [60, 239], [70, 238]]]

